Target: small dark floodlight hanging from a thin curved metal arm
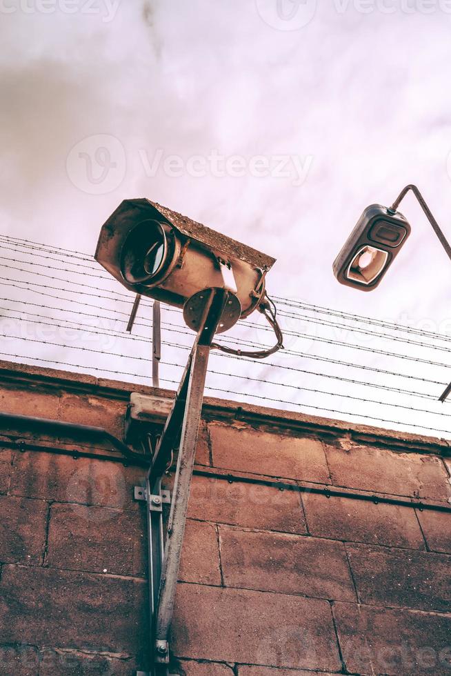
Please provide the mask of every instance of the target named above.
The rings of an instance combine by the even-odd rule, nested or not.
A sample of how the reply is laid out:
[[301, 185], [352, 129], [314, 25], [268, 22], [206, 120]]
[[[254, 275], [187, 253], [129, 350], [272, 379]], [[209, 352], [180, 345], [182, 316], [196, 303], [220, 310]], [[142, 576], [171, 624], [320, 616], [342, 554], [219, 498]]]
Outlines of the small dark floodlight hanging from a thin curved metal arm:
[[340, 284], [361, 291], [372, 291], [399, 254], [410, 235], [410, 225], [397, 210], [407, 192], [412, 190], [443, 248], [451, 258], [451, 247], [432, 216], [417, 186], [406, 186], [391, 207], [372, 204], [361, 215], [345, 245], [334, 261], [333, 270]]

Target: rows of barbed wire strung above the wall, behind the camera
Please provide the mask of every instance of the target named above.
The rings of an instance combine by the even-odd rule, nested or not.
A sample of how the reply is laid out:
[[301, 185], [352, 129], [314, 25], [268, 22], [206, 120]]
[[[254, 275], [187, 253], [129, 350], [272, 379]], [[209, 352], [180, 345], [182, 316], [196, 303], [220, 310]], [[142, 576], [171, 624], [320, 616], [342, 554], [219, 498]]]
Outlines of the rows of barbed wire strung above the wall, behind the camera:
[[[12, 290], [11, 296], [4, 294], [0, 298], [1, 321], [17, 322], [17, 326], [30, 325], [30, 332], [52, 329], [60, 334], [63, 330], [74, 332], [73, 344], [71, 341], [59, 341], [56, 339], [46, 339], [36, 335], [11, 335], [11, 332], [3, 331], [0, 334], [2, 341], [23, 341], [23, 345], [34, 345], [34, 356], [20, 354], [17, 350], [8, 350], [0, 352], [3, 357], [14, 359], [26, 359], [32, 363], [52, 364], [60, 368], [71, 368], [81, 370], [82, 372], [95, 372], [108, 374], [110, 377], [128, 377], [138, 381], [151, 381], [150, 371], [150, 331], [152, 328], [151, 308], [152, 301], [143, 298], [141, 301], [141, 314], [137, 317], [134, 324], [132, 335], [121, 331], [125, 328], [130, 310], [134, 301], [134, 295], [130, 292], [121, 292], [119, 283], [115, 282], [108, 272], [104, 271], [94, 259], [83, 252], [72, 251], [59, 246], [50, 246], [39, 242], [32, 242], [18, 237], [9, 237], [0, 235], [0, 260], [3, 268], [3, 277], [0, 277], [0, 283], [5, 288]], [[8, 255], [3, 255], [10, 252]], [[11, 257], [11, 253], [14, 257]], [[27, 260], [30, 257], [30, 260]], [[32, 258], [32, 259], [31, 259]], [[72, 269], [74, 268], [74, 269]], [[8, 272], [10, 271], [10, 272]], [[53, 272], [57, 272], [56, 275]], [[7, 276], [9, 275], [9, 276]], [[16, 276], [23, 277], [17, 279]], [[99, 283], [94, 286], [90, 284], [90, 279], [96, 279]], [[107, 284], [116, 285], [116, 288], [108, 288]], [[23, 297], [23, 294], [26, 297]], [[39, 298], [30, 299], [30, 294], [39, 296]], [[52, 299], [47, 303], [46, 299]], [[442, 379], [435, 377], [433, 369], [450, 370], [451, 364], [445, 364], [442, 361], [436, 361], [431, 358], [430, 352], [440, 351], [448, 352], [446, 343], [451, 341], [451, 337], [438, 332], [420, 330], [395, 324], [391, 321], [376, 319], [374, 317], [364, 317], [363, 315], [351, 315], [341, 310], [332, 310], [309, 304], [305, 301], [274, 297], [281, 306], [279, 315], [283, 319], [290, 320], [291, 326], [285, 328], [286, 337], [301, 341], [302, 347], [306, 349], [296, 349], [289, 347], [283, 351], [283, 355], [273, 356], [271, 361], [265, 361], [263, 364], [256, 364], [253, 359], [237, 357], [234, 355], [221, 355], [212, 352], [212, 368], [209, 372], [211, 377], [217, 382], [207, 386], [210, 392], [225, 393], [228, 397], [236, 395], [245, 399], [258, 399], [263, 402], [277, 403], [281, 406], [291, 406], [303, 410], [321, 411], [325, 415], [334, 414], [352, 419], [368, 419], [377, 421], [379, 424], [392, 424], [401, 428], [415, 428], [429, 430], [434, 433], [451, 433], [449, 430], [442, 429], [437, 423], [432, 426], [431, 416], [440, 416], [443, 421], [451, 417], [447, 412], [448, 408], [443, 408], [437, 399], [443, 387], [448, 384], [446, 375]], [[63, 305], [63, 307], [60, 306]], [[26, 308], [25, 310], [21, 308]], [[93, 310], [93, 311], [90, 311]], [[146, 312], [148, 311], [148, 317]], [[190, 350], [194, 333], [188, 330], [181, 319], [181, 311], [177, 308], [165, 308], [164, 317], [167, 321], [162, 322], [163, 329], [163, 348], [168, 350], [168, 355], [179, 351], [183, 355]], [[19, 315], [19, 316], [17, 316]], [[57, 315], [56, 317], [54, 315]], [[144, 315], [144, 316], [143, 316]], [[108, 326], [108, 323], [115, 326]], [[100, 323], [99, 326], [97, 324]], [[297, 330], [297, 323], [301, 324], [303, 330]], [[294, 324], [294, 325], [293, 325]], [[1, 326], [1, 325], [0, 325]], [[309, 333], [305, 327], [314, 332]], [[244, 336], [238, 337], [235, 331], [228, 335], [221, 336], [221, 341], [226, 341], [234, 347], [246, 346], [252, 349], [261, 349], [266, 346], [258, 340], [250, 337], [250, 331], [257, 331], [261, 337], [268, 335], [270, 327], [257, 324], [252, 320], [239, 322], [237, 331]], [[20, 333], [21, 329], [19, 330]], [[330, 335], [332, 332], [332, 336]], [[339, 337], [337, 336], [339, 332]], [[403, 348], [403, 352], [381, 349], [380, 346], [361, 345], [356, 341], [348, 342], [343, 339], [343, 332], [349, 332], [350, 336], [364, 336], [374, 341], [390, 341], [394, 346]], [[16, 333], [16, 328], [12, 333]], [[334, 335], [335, 334], [335, 335]], [[341, 335], [340, 335], [341, 334]], [[72, 333], [67, 334], [72, 337]], [[171, 335], [174, 337], [170, 339]], [[87, 340], [95, 340], [97, 346], [86, 345]], [[103, 340], [121, 341], [113, 350], [101, 348]], [[363, 340], [363, 338], [362, 338]], [[183, 342], [186, 341], [186, 344]], [[305, 343], [307, 341], [307, 343]], [[430, 341], [430, 342], [427, 342]], [[112, 343], [110, 343], [112, 344]], [[141, 344], [142, 348], [138, 346]], [[148, 356], [142, 356], [139, 352], [148, 345], [146, 350]], [[41, 349], [42, 346], [42, 349]], [[134, 349], [136, 346], [137, 349]], [[4, 346], [1, 346], [4, 347]], [[57, 355], [50, 355], [56, 359], [48, 358], [49, 355], [43, 353], [48, 349], [59, 348], [61, 359]], [[337, 359], [334, 350], [350, 350], [349, 359]], [[30, 347], [31, 349], [31, 347]], [[66, 359], [65, 352], [74, 352], [77, 359]], [[324, 350], [332, 352], [332, 356], [322, 354]], [[28, 350], [24, 350], [28, 351]], [[320, 353], [317, 353], [320, 352]], [[86, 359], [81, 359], [81, 354], [86, 354]], [[361, 359], [354, 359], [354, 355], [361, 356]], [[362, 364], [365, 361], [364, 355], [371, 355], [370, 363]], [[88, 355], [91, 357], [88, 358]], [[340, 355], [341, 356], [341, 355]], [[103, 366], [99, 364], [100, 357], [106, 357], [108, 364]], [[287, 359], [288, 358], [288, 359]], [[226, 362], [224, 359], [234, 359], [232, 362]], [[287, 363], [289, 359], [296, 362], [295, 365]], [[237, 361], [239, 360], [239, 361]], [[330, 366], [330, 371], [315, 370], [314, 368], [302, 368], [300, 361], [316, 361]], [[79, 361], [84, 361], [81, 364]], [[91, 363], [94, 361], [94, 363]], [[396, 361], [399, 364], [404, 363], [409, 366], [409, 372], [401, 372], [401, 367], [390, 368], [391, 362]], [[163, 359], [161, 362], [163, 375], [161, 381], [168, 385], [177, 385], [179, 370], [184, 367], [179, 359]], [[127, 368], [128, 365], [137, 365], [137, 368]], [[120, 365], [120, 368], [119, 368]], [[139, 373], [142, 365], [144, 373]], [[225, 368], [227, 366], [227, 368]], [[125, 366], [125, 368], [124, 368]], [[230, 366], [230, 368], [229, 368]], [[332, 368], [333, 367], [333, 368]], [[234, 372], [237, 368], [239, 372]], [[255, 373], [255, 369], [259, 370]], [[264, 371], [262, 370], [264, 369]], [[348, 370], [353, 369], [364, 375], [363, 378], [349, 377]], [[430, 373], [426, 370], [428, 369]], [[164, 372], [167, 370], [167, 372]], [[281, 377], [275, 377], [279, 374]], [[357, 375], [357, 374], [356, 374]], [[439, 375], [439, 374], [437, 374]], [[290, 379], [288, 379], [290, 378]], [[299, 382], [298, 378], [303, 381]], [[294, 380], [293, 380], [294, 379]], [[381, 379], [381, 381], [378, 381]], [[403, 380], [402, 384], [400, 381]], [[321, 384], [320, 384], [321, 381]], [[248, 384], [243, 388], [244, 391], [238, 391], [233, 388], [239, 383]], [[410, 388], [407, 385], [413, 382], [426, 388], [434, 388], [430, 392], [422, 389], [419, 385], [416, 388]], [[326, 383], [335, 383], [337, 388], [333, 391], [324, 389]], [[226, 387], [224, 386], [226, 385]], [[228, 386], [230, 385], [230, 388]], [[439, 392], [440, 389], [440, 392]], [[274, 396], [274, 390], [286, 392], [285, 398]], [[375, 392], [378, 390], [387, 395], [387, 399], [375, 398]], [[435, 391], [437, 390], [437, 392]], [[273, 395], [273, 396], [272, 396]], [[390, 395], [390, 396], [389, 396]], [[301, 399], [299, 399], [301, 397]], [[305, 399], [308, 397], [308, 399]], [[334, 397], [337, 401], [353, 401], [356, 407], [353, 410], [343, 408], [330, 408], [323, 406], [325, 401], [311, 401], [319, 397]], [[410, 398], [423, 399], [430, 402], [430, 408], [419, 408], [410, 405]], [[308, 401], [308, 403], [307, 403]], [[450, 402], [447, 402], [449, 404]], [[360, 406], [357, 407], [357, 404]], [[433, 410], [435, 404], [435, 410]], [[445, 404], [446, 405], [446, 404]], [[366, 407], [366, 408], [365, 408]], [[372, 410], [368, 411], [368, 407]], [[380, 410], [376, 410], [379, 409]], [[383, 410], [404, 411], [410, 413], [410, 419], [398, 420], [396, 416], [385, 416]], [[424, 419], [423, 419], [424, 417]]]

